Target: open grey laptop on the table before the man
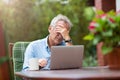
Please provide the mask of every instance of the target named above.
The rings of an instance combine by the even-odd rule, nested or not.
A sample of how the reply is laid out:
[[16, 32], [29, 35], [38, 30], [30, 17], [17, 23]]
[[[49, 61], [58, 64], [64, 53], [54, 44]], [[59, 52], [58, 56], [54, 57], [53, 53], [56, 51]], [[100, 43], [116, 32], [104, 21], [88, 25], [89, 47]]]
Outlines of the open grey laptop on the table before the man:
[[50, 70], [82, 67], [84, 46], [52, 46]]

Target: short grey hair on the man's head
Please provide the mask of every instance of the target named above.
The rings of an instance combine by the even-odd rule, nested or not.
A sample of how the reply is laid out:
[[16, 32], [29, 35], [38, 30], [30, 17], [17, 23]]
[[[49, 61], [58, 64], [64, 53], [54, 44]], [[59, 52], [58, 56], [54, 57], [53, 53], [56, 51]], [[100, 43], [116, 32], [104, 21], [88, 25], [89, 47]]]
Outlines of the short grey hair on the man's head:
[[56, 23], [58, 21], [64, 21], [64, 22], [66, 22], [69, 25], [70, 28], [73, 26], [72, 23], [71, 23], [71, 21], [66, 16], [64, 16], [62, 14], [58, 14], [56, 17], [54, 17], [52, 19], [51, 23], [50, 23], [50, 26], [51, 27], [55, 27]]

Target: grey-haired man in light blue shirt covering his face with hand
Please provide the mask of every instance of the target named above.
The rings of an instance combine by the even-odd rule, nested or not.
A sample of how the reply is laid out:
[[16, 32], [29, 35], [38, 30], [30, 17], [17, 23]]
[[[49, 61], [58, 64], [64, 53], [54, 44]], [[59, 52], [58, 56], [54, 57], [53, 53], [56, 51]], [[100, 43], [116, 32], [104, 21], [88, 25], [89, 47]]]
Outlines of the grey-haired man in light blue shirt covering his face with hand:
[[71, 27], [72, 23], [66, 16], [59, 14], [54, 17], [48, 28], [49, 35], [44, 39], [33, 41], [28, 45], [25, 51], [23, 70], [29, 69], [28, 61], [30, 58], [39, 58], [39, 66], [42, 69], [49, 69], [51, 46], [72, 45], [72, 40], [69, 35]]

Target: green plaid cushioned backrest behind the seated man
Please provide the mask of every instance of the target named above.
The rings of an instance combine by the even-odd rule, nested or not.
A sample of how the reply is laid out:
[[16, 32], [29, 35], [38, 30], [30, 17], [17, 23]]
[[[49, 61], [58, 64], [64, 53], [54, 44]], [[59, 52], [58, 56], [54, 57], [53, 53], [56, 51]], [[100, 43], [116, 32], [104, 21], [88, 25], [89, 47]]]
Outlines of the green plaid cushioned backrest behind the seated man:
[[24, 62], [24, 52], [30, 42], [16, 42], [13, 46], [14, 72], [21, 71]]

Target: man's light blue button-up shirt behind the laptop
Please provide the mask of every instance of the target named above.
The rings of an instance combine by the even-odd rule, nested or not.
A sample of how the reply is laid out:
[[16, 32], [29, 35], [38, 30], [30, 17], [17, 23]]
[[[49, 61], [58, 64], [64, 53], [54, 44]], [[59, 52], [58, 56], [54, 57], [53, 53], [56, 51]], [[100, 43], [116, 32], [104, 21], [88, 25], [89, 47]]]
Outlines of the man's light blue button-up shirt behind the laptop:
[[[49, 69], [51, 52], [50, 52], [47, 40], [48, 40], [48, 36], [41, 40], [32, 41], [28, 45], [24, 55], [25, 56], [24, 63], [23, 63], [24, 71], [29, 69], [28, 61], [30, 58], [47, 59], [48, 63], [43, 69]], [[65, 45], [65, 42], [63, 41], [59, 45]]]

